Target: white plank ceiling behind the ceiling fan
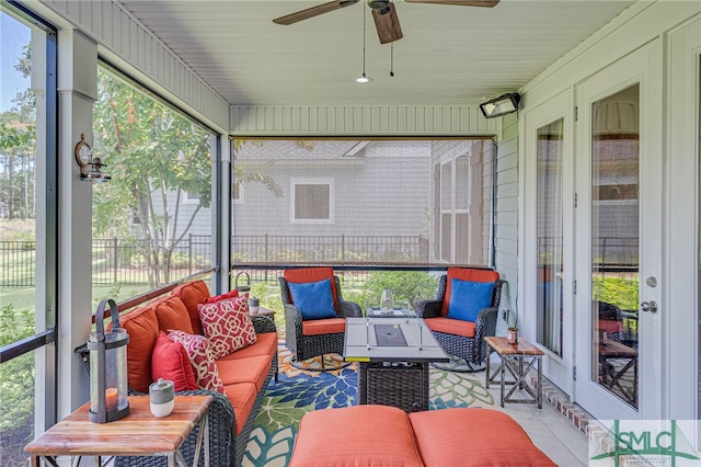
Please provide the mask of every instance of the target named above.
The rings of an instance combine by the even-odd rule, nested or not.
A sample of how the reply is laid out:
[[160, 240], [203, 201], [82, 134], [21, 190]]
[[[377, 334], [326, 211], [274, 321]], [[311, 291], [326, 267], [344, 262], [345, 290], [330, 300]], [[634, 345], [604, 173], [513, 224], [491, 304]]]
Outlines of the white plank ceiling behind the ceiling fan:
[[[502, 0], [494, 8], [395, 1], [404, 37], [378, 41], [358, 3], [291, 25], [301, 0], [123, 0], [233, 105], [463, 105], [515, 91], [632, 0]], [[364, 14], [367, 21], [363, 71]]]

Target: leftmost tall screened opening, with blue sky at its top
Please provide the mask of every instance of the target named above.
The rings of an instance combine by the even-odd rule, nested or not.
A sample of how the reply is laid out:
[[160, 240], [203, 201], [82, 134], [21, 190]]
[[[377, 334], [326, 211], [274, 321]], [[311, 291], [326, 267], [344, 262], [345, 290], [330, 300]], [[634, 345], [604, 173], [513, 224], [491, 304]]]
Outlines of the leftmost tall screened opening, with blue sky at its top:
[[20, 467], [55, 423], [56, 32], [0, 2], [0, 464]]

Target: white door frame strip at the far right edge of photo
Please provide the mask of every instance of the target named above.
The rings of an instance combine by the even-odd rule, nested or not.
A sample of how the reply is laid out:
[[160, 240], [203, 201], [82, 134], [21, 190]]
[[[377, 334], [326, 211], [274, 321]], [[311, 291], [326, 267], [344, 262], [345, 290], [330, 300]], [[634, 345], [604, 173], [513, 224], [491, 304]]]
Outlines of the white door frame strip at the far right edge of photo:
[[[664, 417], [699, 419], [699, 226], [701, 157], [701, 18], [669, 33], [669, 312], [664, 317]], [[696, 253], [696, 254], [694, 254]], [[696, 293], [692, 293], [694, 291]]]

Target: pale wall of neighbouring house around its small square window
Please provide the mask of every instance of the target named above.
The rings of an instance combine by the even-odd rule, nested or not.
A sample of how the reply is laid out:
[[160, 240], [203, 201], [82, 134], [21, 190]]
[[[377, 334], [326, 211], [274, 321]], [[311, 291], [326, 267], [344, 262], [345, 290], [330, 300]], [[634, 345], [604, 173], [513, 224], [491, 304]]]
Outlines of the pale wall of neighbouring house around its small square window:
[[[234, 163], [240, 163], [246, 172], [260, 170], [271, 175], [283, 195], [274, 196], [261, 183], [244, 183], [243, 202], [234, 205], [234, 235], [427, 235], [430, 179], [426, 174], [430, 167], [430, 141], [397, 141], [391, 147], [386, 143], [378, 146], [370, 141], [353, 157], [338, 155], [333, 159], [275, 157], [266, 162], [246, 158], [250, 155], [242, 151]], [[288, 141], [263, 143], [269, 155], [289, 150], [290, 146]], [[330, 182], [333, 220], [291, 219], [294, 182]]]

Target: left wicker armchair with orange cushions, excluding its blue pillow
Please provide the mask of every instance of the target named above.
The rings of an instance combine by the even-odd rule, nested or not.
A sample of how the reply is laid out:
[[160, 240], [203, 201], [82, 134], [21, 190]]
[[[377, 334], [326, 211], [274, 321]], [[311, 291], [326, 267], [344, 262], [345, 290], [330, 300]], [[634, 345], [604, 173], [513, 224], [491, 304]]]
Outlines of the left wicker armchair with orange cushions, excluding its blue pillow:
[[[345, 335], [345, 318], [361, 316], [360, 306], [346, 301], [341, 295], [338, 277], [331, 267], [309, 267], [303, 270], [287, 270], [279, 277], [283, 305], [285, 306], [286, 339], [285, 344], [295, 357], [294, 365], [304, 360], [321, 355], [321, 369], [324, 366], [323, 355], [327, 353], [343, 353]], [[331, 278], [335, 318], [303, 320], [302, 312], [294, 304], [289, 284], [311, 283]], [[323, 328], [323, 329], [321, 329]]]

